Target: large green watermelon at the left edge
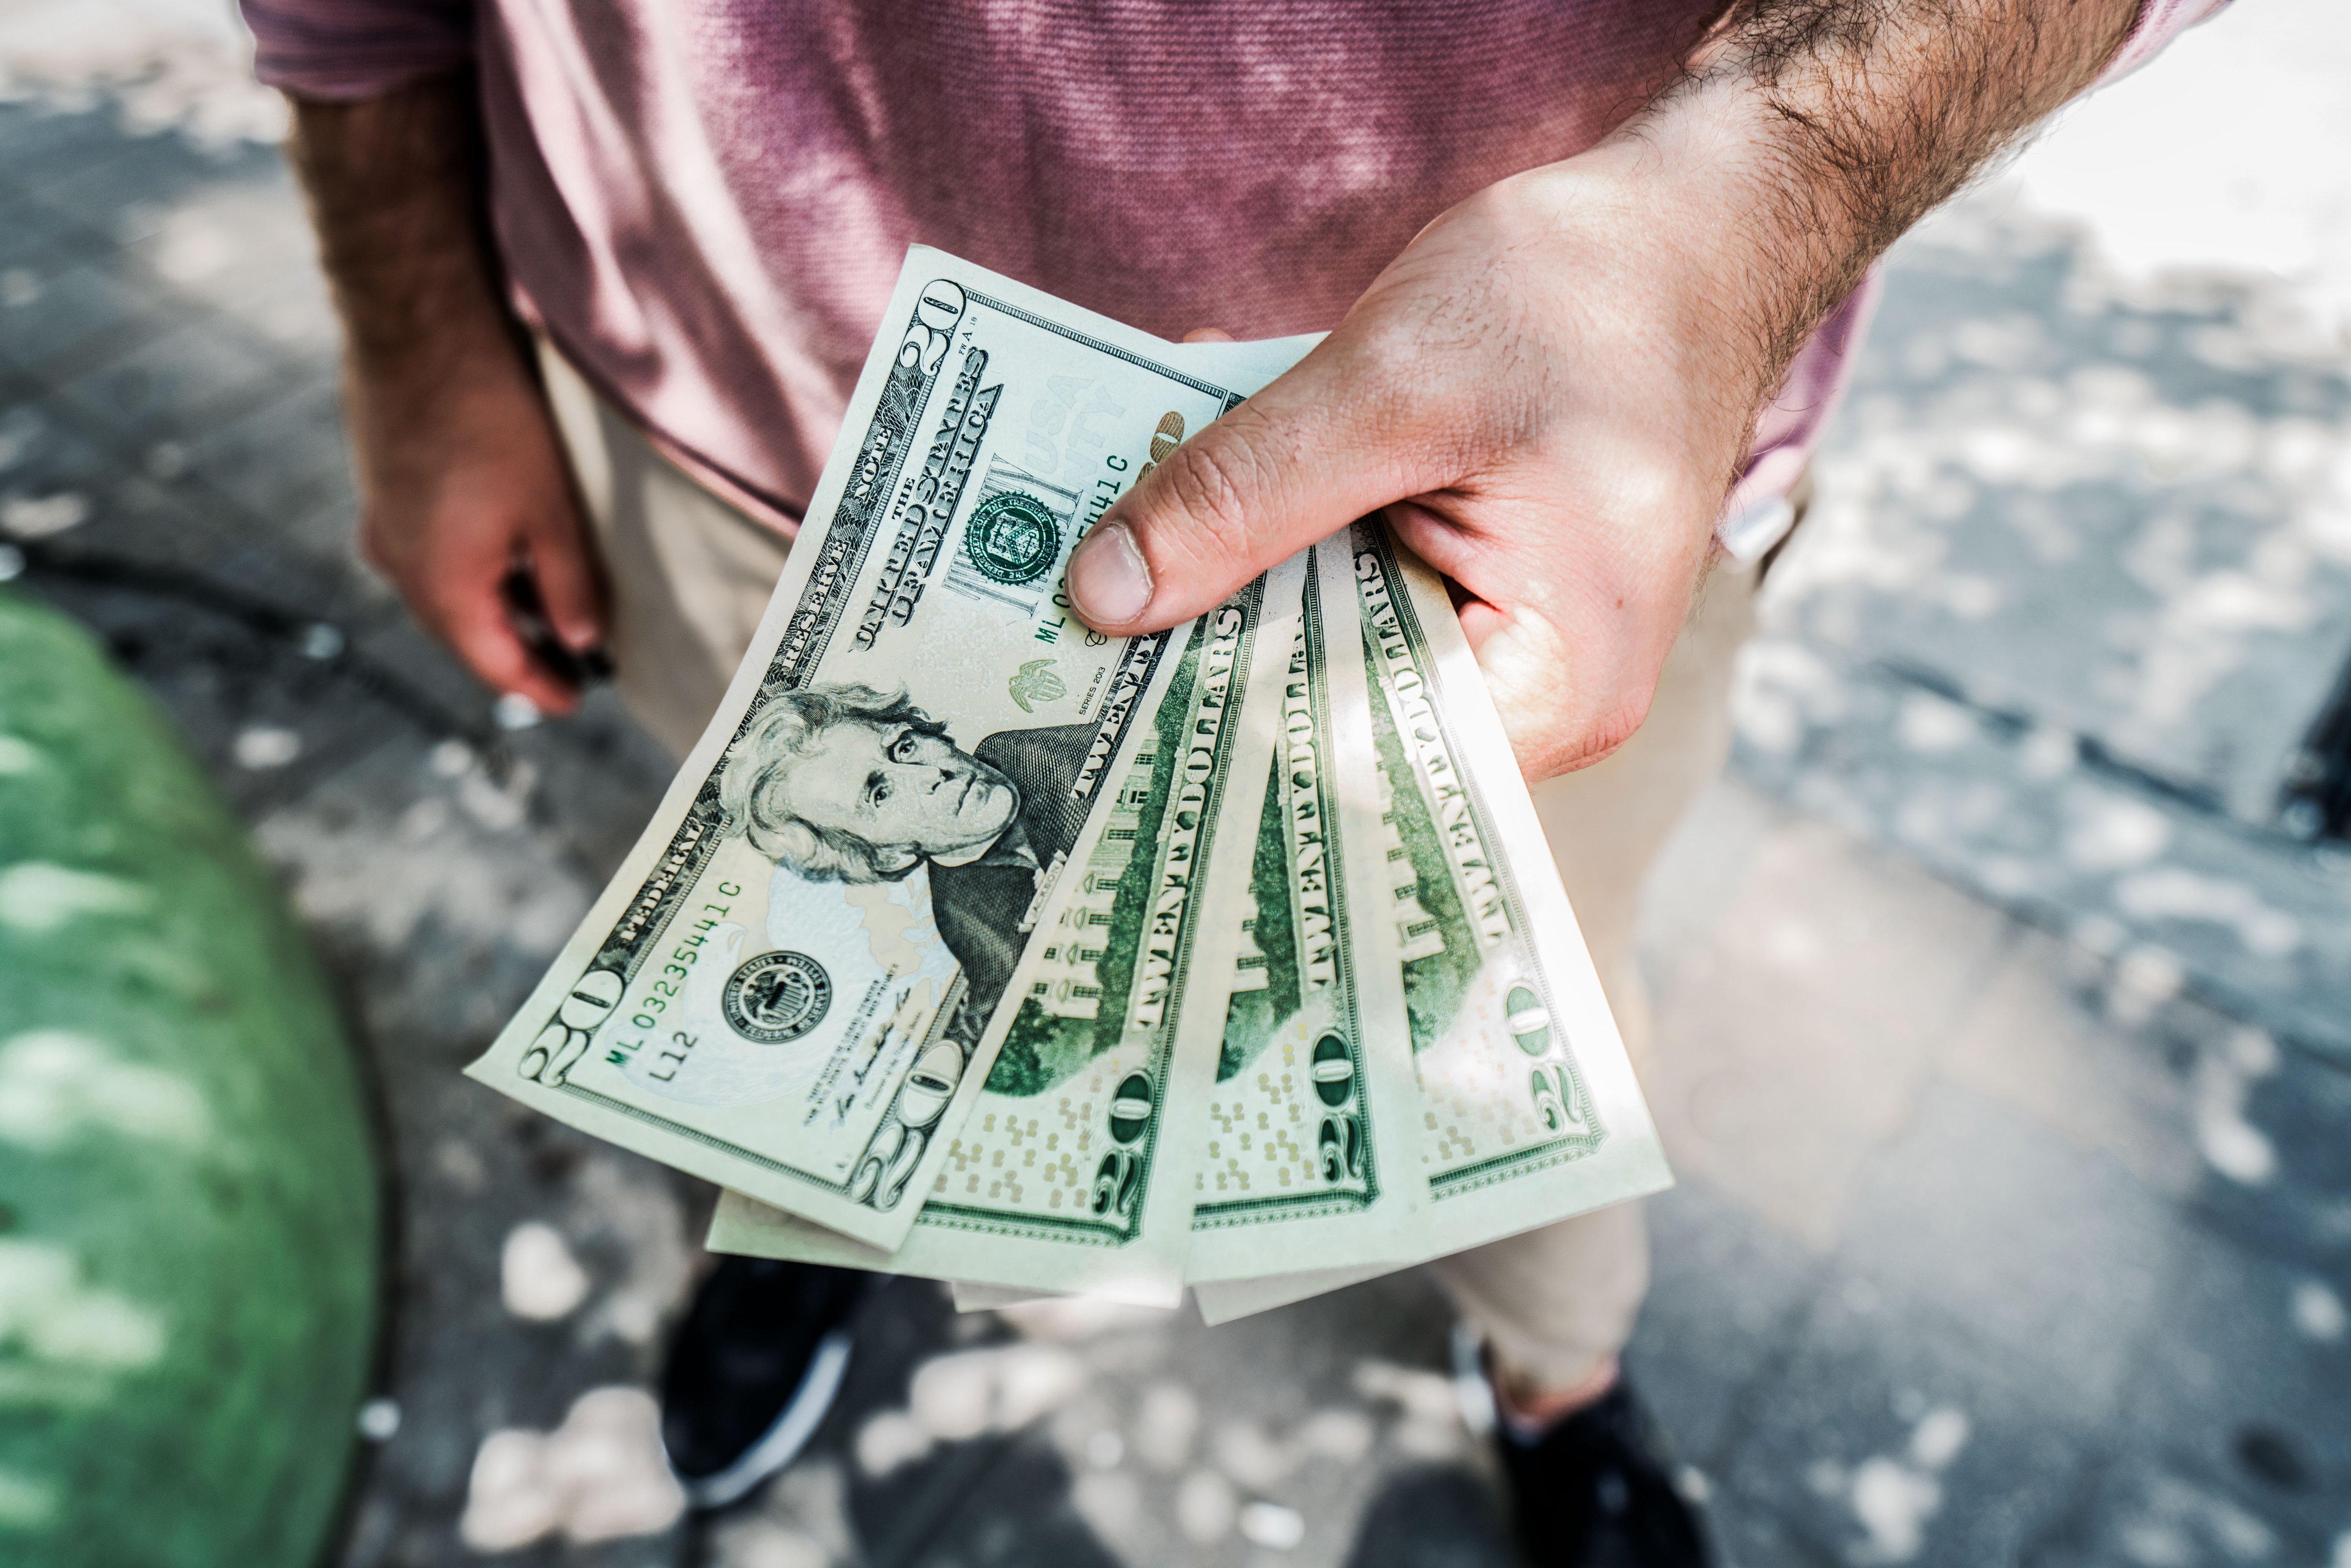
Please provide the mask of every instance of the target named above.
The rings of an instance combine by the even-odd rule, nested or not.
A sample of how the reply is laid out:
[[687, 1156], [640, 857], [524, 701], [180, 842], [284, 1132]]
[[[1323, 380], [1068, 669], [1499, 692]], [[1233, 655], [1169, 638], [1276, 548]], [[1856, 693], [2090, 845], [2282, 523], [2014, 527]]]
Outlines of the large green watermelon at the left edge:
[[315, 1563], [379, 1227], [275, 884], [153, 703], [0, 590], [0, 1563]]

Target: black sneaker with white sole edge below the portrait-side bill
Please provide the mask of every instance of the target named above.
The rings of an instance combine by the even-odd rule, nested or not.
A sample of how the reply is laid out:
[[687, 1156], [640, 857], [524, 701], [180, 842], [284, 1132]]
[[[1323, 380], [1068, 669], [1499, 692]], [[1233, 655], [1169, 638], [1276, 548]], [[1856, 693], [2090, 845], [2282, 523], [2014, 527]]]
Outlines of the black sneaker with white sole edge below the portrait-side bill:
[[799, 1458], [842, 1392], [849, 1319], [872, 1274], [719, 1258], [661, 1371], [661, 1446], [698, 1509], [722, 1509]]

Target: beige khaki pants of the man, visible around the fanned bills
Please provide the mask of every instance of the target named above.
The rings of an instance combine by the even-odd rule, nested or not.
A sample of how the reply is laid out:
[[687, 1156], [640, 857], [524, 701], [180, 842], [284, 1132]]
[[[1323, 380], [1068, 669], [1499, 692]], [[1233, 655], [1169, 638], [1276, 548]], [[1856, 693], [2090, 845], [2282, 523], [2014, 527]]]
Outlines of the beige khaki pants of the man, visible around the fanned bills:
[[[555, 353], [541, 360], [611, 583], [621, 701], [682, 757], [726, 693], [790, 543], [654, 451]], [[1641, 731], [1606, 762], [1535, 788], [1634, 1067], [1650, 1044], [1632, 952], [1641, 882], [1730, 748], [1730, 663], [1754, 628], [1754, 588], [1751, 567], [1719, 569]], [[1641, 1206], [1622, 1204], [1432, 1267], [1502, 1366], [1559, 1389], [1587, 1380], [1632, 1335], [1648, 1291], [1648, 1232]]]

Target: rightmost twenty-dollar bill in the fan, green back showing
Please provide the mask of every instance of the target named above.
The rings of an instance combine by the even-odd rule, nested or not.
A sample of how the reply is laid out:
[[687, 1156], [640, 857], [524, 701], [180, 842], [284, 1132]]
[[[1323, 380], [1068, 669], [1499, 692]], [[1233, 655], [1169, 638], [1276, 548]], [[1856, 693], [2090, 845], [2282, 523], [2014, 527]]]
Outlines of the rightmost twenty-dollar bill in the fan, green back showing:
[[[1345, 550], [1338, 548], [1345, 543]], [[1317, 550], [1361, 607], [1373, 804], [1394, 919], [1359, 926], [1401, 971], [1418, 1084], [1413, 1258], [1672, 1185], [1535, 804], [1441, 578], [1378, 520]], [[1357, 795], [1361, 802], [1364, 795]], [[1373, 959], [1366, 957], [1366, 964]]]

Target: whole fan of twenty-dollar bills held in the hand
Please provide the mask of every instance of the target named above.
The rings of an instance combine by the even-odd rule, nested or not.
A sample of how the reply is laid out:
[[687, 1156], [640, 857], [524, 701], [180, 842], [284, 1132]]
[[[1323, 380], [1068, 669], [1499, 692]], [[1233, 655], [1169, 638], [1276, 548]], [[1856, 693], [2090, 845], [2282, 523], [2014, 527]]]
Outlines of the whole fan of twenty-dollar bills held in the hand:
[[1070, 614], [1305, 348], [912, 252], [719, 715], [468, 1072], [731, 1187], [722, 1251], [1211, 1314], [1660, 1187], [1427, 567], [1361, 522]]

